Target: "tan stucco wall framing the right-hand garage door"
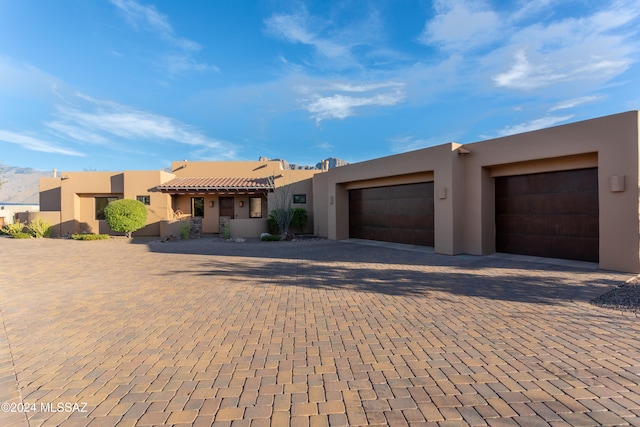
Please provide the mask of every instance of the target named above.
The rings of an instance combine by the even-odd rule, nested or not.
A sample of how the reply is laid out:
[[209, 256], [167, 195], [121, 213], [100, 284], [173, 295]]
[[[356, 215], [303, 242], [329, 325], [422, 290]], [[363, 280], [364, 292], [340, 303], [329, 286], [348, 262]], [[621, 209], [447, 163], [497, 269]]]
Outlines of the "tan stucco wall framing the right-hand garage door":
[[[638, 141], [638, 111], [630, 111], [465, 145], [471, 154], [463, 159], [463, 251], [495, 250], [492, 170], [509, 166], [510, 174], [517, 175], [518, 170], [577, 169], [589, 163], [591, 154], [598, 167], [600, 267], [640, 272]], [[625, 177], [624, 191], [611, 191], [611, 177], [620, 176]]]

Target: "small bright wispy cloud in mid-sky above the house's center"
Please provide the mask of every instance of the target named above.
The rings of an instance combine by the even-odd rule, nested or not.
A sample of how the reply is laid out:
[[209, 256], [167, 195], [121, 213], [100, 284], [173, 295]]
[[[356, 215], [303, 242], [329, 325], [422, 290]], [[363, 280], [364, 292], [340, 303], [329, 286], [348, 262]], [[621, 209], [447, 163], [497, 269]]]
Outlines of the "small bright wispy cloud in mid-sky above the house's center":
[[[404, 85], [397, 82], [334, 83], [324, 90], [301, 87], [299, 91], [312, 92], [301, 103], [311, 113], [311, 118], [315, 119], [316, 124], [320, 124], [327, 119], [345, 119], [355, 116], [356, 110], [360, 107], [396, 105], [405, 98], [403, 87]], [[336, 93], [337, 91], [343, 93]]]

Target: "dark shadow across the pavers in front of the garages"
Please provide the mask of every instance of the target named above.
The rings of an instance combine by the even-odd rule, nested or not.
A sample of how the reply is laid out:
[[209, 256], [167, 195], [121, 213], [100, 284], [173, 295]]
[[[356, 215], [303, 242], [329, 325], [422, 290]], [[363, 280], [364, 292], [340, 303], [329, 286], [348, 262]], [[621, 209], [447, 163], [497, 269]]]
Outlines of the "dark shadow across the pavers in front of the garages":
[[304, 286], [442, 299], [442, 294], [533, 304], [588, 301], [623, 276], [490, 257], [446, 256], [334, 241], [213, 239], [149, 244], [153, 252], [210, 256], [169, 274], [230, 278], [253, 285]]

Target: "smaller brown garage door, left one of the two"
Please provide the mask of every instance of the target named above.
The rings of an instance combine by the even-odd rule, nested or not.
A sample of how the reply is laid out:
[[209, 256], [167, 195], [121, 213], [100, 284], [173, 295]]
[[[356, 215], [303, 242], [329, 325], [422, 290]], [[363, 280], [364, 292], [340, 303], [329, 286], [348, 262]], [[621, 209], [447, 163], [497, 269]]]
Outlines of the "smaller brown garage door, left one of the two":
[[433, 182], [350, 190], [349, 236], [433, 246]]

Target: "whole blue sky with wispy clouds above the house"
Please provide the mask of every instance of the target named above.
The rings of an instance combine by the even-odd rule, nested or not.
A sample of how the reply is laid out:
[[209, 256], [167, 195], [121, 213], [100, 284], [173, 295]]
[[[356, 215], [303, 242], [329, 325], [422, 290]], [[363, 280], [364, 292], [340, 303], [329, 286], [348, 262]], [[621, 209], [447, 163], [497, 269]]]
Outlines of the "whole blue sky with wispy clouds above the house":
[[0, 1], [0, 159], [357, 162], [640, 108], [640, 3]]

